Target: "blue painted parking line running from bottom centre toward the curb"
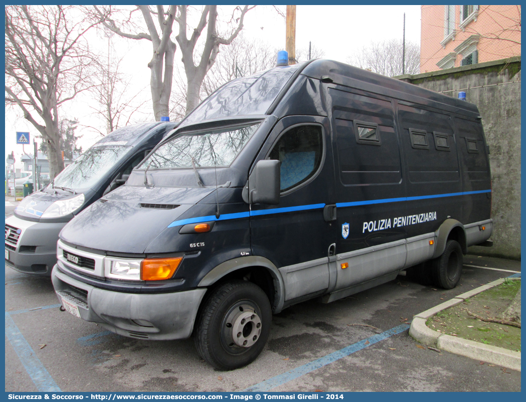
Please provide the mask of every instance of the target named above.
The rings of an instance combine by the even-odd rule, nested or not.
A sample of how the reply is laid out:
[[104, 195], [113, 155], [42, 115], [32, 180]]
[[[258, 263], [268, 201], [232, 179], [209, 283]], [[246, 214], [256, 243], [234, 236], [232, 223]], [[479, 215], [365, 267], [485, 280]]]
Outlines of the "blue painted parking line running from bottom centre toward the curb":
[[385, 332], [382, 332], [381, 334], [373, 335], [367, 339], [362, 339], [355, 344], [346, 346], [345, 348], [332, 352], [331, 354], [328, 354], [327, 356], [320, 357], [319, 359], [310, 361], [310, 363], [304, 364], [303, 366], [299, 366], [299, 367], [296, 367], [295, 369], [287, 371], [287, 373], [280, 374], [279, 376], [272, 377], [272, 378], [269, 378], [268, 380], [262, 381], [259, 384], [252, 385], [251, 387], [244, 389], [243, 392], [269, 391], [272, 388], [276, 388], [282, 384], [288, 383], [289, 381], [295, 378], [308, 374], [313, 370], [316, 370], [320, 367], [333, 363], [333, 361], [339, 360], [342, 357], [349, 356], [350, 354], [355, 353], [358, 350], [365, 349], [366, 347], [376, 344], [377, 342], [383, 339], [387, 339], [390, 336], [400, 334], [403, 331], [409, 329], [409, 327], [410, 327], [409, 324], [402, 324], [395, 328], [391, 328]]

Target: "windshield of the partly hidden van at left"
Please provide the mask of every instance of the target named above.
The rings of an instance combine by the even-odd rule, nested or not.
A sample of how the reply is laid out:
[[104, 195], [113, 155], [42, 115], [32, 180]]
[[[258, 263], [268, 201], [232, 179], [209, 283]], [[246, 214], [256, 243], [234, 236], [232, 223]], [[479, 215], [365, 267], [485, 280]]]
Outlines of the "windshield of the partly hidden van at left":
[[68, 189], [94, 186], [131, 146], [97, 146], [89, 148], [55, 177], [54, 187]]

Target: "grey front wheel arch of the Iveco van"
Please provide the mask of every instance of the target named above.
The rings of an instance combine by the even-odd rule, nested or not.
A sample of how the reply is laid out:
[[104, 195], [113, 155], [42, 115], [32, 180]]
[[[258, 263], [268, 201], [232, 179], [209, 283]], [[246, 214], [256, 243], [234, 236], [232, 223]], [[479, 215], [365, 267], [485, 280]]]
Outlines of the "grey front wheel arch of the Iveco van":
[[272, 313], [279, 313], [285, 301], [285, 285], [278, 268], [265, 257], [246, 256], [225, 261], [210, 270], [197, 286], [214, 288], [229, 279], [242, 279], [248, 274], [250, 282], [261, 287], [267, 294]]

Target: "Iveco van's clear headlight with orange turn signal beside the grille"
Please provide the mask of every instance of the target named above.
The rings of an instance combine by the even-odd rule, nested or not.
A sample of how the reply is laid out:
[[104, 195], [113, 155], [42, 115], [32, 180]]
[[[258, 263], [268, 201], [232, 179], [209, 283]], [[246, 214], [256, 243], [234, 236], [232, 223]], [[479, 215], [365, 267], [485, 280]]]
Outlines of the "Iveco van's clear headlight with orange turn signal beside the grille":
[[107, 278], [131, 280], [163, 280], [174, 276], [183, 257], [122, 259], [106, 257]]

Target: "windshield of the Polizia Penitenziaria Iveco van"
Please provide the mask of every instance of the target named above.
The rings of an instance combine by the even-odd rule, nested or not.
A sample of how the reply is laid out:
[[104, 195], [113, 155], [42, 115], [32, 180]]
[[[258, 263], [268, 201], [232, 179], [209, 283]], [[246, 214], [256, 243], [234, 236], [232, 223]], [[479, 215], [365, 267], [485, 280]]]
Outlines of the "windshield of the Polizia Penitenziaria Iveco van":
[[241, 152], [259, 123], [177, 136], [159, 146], [138, 169], [228, 166]]

